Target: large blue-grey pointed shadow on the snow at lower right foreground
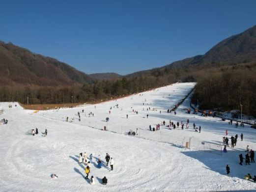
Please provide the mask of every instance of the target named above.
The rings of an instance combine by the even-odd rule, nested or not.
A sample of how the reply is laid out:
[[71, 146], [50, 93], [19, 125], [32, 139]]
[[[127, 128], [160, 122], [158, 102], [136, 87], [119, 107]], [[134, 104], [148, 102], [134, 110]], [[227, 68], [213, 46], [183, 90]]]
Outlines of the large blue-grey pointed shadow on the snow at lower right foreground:
[[[215, 143], [214, 143], [215, 144]], [[194, 158], [199, 162], [203, 163], [206, 169], [218, 172], [222, 175], [226, 175], [226, 166], [230, 166], [230, 176], [238, 177], [243, 179], [247, 173], [251, 175], [256, 175], [256, 164], [239, 165], [239, 154], [243, 154], [245, 158], [244, 150], [229, 150], [228, 153], [224, 153], [220, 150], [210, 149], [201, 151], [182, 151], [184, 155]]]

